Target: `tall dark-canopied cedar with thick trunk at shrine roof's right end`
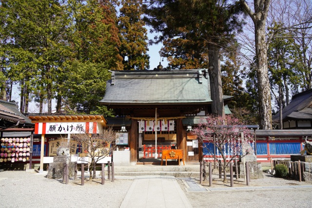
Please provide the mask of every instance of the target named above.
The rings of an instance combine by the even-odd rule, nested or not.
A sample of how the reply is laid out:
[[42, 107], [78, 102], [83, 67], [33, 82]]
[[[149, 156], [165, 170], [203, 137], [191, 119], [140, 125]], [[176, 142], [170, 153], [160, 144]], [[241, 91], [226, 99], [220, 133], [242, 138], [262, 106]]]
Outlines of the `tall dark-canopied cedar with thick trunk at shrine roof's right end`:
[[202, 40], [202, 46], [207, 45], [212, 112], [219, 116], [224, 115], [220, 50], [232, 42], [235, 31], [241, 28], [240, 11], [228, 0], [159, 0], [145, 10], [145, 21], [161, 33], [155, 42], [180, 37]]

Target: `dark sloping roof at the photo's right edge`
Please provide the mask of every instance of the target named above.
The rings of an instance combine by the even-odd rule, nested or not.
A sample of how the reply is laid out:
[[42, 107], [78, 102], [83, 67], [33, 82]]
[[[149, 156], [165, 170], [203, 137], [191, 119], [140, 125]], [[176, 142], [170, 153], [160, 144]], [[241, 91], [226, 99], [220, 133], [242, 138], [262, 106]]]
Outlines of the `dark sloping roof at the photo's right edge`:
[[[312, 89], [295, 94], [292, 101], [282, 110], [283, 120], [300, 119], [312, 120]], [[273, 116], [273, 120], [279, 120], [279, 113]]]

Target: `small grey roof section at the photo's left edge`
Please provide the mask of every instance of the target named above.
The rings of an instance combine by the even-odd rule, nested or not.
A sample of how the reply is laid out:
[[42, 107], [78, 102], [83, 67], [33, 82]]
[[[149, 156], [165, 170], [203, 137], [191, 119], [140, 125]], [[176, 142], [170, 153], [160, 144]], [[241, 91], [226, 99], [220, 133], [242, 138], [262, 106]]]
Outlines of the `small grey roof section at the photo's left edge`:
[[30, 119], [24, 116], [18, 109], [16, 103], [0, 100], [0, 119], [10, 122], [18, 122], [31, 124]]

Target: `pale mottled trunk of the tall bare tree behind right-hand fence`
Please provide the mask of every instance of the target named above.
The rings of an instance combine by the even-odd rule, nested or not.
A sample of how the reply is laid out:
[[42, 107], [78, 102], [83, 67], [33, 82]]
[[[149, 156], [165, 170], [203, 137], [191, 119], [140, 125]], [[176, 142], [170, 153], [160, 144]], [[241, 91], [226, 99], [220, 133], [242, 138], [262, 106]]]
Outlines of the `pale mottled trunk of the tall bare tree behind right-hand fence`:
[[268, 76], [265, 21], [266, 18], [263, 20], [262, 16], [258, 17], [254, 28], [260, 116], [259, 125], [261, 129], [272, 129], [271, 93]]

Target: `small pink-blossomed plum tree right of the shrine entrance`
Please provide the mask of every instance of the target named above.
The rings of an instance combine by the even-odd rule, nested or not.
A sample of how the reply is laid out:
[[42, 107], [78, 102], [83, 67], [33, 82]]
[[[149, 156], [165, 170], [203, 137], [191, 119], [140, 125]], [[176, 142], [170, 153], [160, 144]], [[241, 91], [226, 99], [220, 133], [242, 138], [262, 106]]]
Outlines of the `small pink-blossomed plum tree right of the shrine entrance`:
[[227, 182], [226, 168], [239, 155], [253, 154], [250, 142], [253, 141], [253, 132], [246, 125], [231, 115], [207, 115], [197, 127], [193, 129], [203, 149], [213, 158], [223, 160], [223, 182]]

